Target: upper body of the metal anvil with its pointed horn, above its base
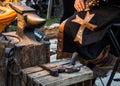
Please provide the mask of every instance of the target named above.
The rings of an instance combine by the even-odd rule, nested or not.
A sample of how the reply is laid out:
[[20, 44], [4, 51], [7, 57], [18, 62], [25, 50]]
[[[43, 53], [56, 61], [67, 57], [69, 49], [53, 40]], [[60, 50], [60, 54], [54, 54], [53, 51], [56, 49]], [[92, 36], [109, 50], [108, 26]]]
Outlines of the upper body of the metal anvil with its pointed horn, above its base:
[[35, 28], [40, 28], [45, 24], [45, 19], [35, 13], [35, 9], [18, 3], [10, 3], [10, 7], [17, 13], [17, 35], [23, 37], [29, 32], [34, 32]]

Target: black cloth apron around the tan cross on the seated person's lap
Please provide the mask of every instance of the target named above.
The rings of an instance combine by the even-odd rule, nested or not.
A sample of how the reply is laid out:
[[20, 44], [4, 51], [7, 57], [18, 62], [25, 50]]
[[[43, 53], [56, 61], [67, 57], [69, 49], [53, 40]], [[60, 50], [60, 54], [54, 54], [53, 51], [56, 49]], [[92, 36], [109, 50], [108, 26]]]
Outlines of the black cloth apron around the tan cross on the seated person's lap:
[[72, 22], [76, 15], [84, 19], [86, 12], [76, 12], [71, 16], [64, 27], [63, 52], [78, 52], [84, 59], [95, 59], [107, 45], [105, 34], [113, 23], [120, 23], [120, 9], [113, 6], [92, 8], [90, 13], [95, 13], [90, 23], [97, 25], [94, 31], [85, 29], [82, 44], [74, 42], [80, 24]]

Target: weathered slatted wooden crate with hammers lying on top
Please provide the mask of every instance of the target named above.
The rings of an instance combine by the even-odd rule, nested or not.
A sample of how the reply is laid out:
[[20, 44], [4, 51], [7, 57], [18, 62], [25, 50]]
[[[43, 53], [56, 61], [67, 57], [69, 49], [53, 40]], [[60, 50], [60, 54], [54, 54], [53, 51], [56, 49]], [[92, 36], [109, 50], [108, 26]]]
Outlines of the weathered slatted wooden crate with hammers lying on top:
[[[46, 64], [48, 67], [65, 64], [69, 59], [59, 60]], [[77, 62], [76, 65], [82, 65]], [[92, 86], [93, 72], [86, 66], [82, 66], [79, 72], [59, 73], [58, 77], [40, 66], [29, 67], [22, 70], [22, 86]]]

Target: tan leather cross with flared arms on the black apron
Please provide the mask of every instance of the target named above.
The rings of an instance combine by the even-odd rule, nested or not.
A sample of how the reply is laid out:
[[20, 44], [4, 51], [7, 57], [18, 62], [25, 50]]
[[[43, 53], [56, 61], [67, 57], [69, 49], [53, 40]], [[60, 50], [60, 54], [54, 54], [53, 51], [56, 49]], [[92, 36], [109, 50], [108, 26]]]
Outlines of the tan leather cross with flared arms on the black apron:
[[90, 14], [89, 12], [87, 12], [84, 19], [82, 19], [78, 15], [76, 15], [76, 18], [72, 20], [73, 22], [81, 24], [74, 41], [79, 41], [79, 43], [82, 44], [82, 35], [83, 35], [85, 28], [88, 28], [88, 29], [94, 31], [94, 29], [97, 27], [97, 25], [89, 23], [89, 21], [94, 17], [94, 15], [95, 14]]

